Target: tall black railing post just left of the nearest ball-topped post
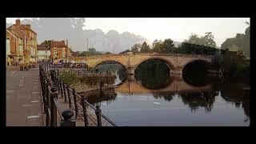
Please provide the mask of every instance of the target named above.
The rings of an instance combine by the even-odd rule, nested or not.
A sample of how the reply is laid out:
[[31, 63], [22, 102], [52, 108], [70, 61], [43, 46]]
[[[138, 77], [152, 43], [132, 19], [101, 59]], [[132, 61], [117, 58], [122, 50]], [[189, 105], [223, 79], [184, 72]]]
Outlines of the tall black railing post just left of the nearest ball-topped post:
[[54, 103], [54, 98], [58, 98], [58, 93], [55, 87], [50, 90], [50, 126], [57, 126], [57, 108]]

